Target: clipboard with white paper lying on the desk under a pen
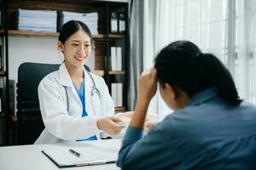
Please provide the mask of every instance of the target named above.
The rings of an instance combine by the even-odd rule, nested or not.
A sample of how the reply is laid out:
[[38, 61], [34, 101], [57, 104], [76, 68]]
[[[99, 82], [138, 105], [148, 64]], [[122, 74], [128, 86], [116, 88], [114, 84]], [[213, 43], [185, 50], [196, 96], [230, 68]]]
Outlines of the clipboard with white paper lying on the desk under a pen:
[[54, 150], [42, 150], [42, 153], [60, 168], [102, 165], [115, 163], [117, 160], [117, 153], [108, 150], [72, 148], [72, 150], [79, 152], [81, 156], [75, 156], [69, 150], [70, 148], [56, 148]]

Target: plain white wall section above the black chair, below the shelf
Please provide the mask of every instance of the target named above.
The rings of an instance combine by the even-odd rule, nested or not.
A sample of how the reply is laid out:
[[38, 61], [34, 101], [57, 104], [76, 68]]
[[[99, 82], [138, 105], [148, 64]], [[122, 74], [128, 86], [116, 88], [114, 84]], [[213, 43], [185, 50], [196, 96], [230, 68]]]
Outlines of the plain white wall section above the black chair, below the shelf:
[[19, 65], [24, 62], [61, 64], [57, 37], [9, 36], [9, 79], [17, 82]]

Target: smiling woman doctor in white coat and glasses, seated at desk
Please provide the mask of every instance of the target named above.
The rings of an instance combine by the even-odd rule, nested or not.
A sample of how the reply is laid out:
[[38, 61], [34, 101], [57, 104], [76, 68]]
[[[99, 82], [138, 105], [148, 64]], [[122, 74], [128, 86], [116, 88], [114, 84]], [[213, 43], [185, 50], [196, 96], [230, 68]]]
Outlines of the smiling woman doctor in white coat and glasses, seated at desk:
[[104, 139], [122, 130], [103, 78], [84, 69], [91, 42], [83, 22], [71, 20], [62, 26], [57, 44], [65, 61], [38, 86], [45, 128], [35, 144]]

